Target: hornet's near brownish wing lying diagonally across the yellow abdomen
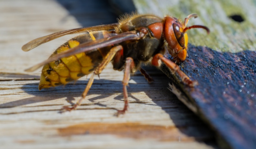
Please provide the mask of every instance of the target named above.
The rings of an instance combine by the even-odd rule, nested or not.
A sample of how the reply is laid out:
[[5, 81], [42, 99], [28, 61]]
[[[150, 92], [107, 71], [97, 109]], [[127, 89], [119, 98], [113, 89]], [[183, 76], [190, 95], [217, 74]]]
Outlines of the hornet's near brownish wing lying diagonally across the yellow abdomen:
[[140, 38], [141, 38], [141, 35], [138, 34], [137, 31], [129, 31], [129, 32], [117, 34], [112, 37], [85, 42], [85, 43], [80, 44], [79, 46], [71, 48], [67, 51], [60, 53], [60, 54], [56, 54], [56, 55], [50, 57], [49, 59], [47, 59], [46, 61], [43, 61], [37, 65], [34, 65], [33, 67], [26, 69], [25, 71], [34, 71], [34, 70], [38, 69], [39, 67], [41, 67], [49, 62], [53, 62], [57, 59], [60, 59], [62, 57], [68, 57], [68, 56], [75, 55], [75, 54], [82, 53], [82, 52], [88, 53], [88, 52], [97, 50], [97, 48], [102, 48], [102, 47], [109, 46], [109, 45], [119, 44], [119, 43], [127, 41], [127, 40], [138, 40]]

